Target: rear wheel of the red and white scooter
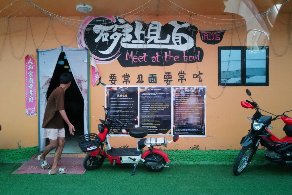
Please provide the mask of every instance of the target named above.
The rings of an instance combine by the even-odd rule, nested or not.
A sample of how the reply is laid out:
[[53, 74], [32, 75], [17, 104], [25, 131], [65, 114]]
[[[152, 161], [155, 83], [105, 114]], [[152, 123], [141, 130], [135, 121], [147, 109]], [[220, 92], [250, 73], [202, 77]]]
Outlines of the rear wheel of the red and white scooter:
[[145, 157], [144, 165], [148, 171], [159, 172], [166, 165], [166, 161], [160, 154], [154, 153]]

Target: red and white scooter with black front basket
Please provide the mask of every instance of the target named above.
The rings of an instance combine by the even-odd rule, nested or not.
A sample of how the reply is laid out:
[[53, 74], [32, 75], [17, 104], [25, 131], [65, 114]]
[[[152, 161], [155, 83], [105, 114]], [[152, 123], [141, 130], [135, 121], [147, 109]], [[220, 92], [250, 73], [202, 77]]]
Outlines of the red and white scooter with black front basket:
[[[104, 106], [102, 106], [104, 107]], [[114, 148], [109, 144], [110, 134], [112, 134], [111, 127], [114, 123], [124, 125], [119, 119], [109, 119], [109, 108], [105, 108], [105, 120], [101, 120], [102, 124], [98, 125], [98, 135], [95, 133], [89, 133], [81, 135], [78, 138], [78, 144], [83, 152], [88, 152], [84, 157], [83, 166], [86, 170], [95, 170], [99, 168], [105, 158], [108, 158], [109, 163], [113, 166], [116, 164], [133, 164], [134, 170], [132, 176], [135, 173], [136, 167], [140, 161], [142, 161], [145, 167], [149, 171], [159, 172], [164, 167], [168, 167], [170, 160], [168, 154], [160, 149], [155, 149], [154, 146], [167, 146], [167, 143], [172, 141], [178, 141], [179, 135], [175, 134], [171, 141], [168, 141], [165, 137], [147, 137], [147, 127], [134, 127], [129, 132], [125, 129], [121, 130], [122, 134], [129, 134], [131, 137], [137, 138], [136, 148]], [[107, 152], [105, 152], [105, 147]], [[148, 150], [142, 151], [147, 146]]]

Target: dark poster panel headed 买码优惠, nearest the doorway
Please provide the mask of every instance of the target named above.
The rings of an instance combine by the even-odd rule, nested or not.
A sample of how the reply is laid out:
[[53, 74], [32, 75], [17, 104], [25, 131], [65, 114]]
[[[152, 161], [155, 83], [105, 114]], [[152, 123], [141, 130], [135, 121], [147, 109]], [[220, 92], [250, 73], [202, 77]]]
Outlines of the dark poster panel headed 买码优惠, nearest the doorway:
[[110, 134], [123, 135], [138, 127], [138, 87], [106, 87], [106, 107], [109, 119], [119, 119], [124, 125], [113, 123]]

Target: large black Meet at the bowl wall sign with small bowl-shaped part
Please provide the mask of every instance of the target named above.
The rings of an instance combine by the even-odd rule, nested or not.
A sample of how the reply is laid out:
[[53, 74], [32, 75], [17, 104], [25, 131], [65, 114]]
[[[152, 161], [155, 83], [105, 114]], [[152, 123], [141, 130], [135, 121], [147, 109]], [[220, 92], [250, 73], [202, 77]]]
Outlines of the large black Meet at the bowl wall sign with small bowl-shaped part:
[[[196, 45], [199, 29], [192, 24], [159, 21], [128, 22], [114, 16], [87, 17], [79, 27], [78, 46], [88, 48], [98, 64], [118, 60], [123, 67], [168, 66], [201, 62], [204, 51]], [[217, 44], [224, 31], [201, 31], [207, 44]]]

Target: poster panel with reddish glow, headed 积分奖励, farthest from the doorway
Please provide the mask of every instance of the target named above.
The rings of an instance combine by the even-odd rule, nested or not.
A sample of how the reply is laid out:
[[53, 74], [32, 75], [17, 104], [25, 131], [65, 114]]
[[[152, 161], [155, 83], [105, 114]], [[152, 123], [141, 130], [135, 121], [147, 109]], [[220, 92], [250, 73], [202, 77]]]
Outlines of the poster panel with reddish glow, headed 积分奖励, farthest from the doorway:
[[175, 134], [206, 137], [206, 87], [173, 87]]

